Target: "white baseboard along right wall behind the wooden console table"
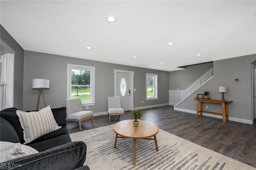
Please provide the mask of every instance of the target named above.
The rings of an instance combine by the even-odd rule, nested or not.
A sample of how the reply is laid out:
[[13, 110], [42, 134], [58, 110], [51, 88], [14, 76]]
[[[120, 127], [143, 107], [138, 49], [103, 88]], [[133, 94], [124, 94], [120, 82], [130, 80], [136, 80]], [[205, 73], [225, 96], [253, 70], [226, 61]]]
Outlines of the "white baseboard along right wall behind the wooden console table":
[[[196, 111], [192, 111], [192, 110], [188, 110], [188, 109], [180, 109], [180, 108], [176, 107], [174, 110], [196, 114]], [[202, 115], [222, 119], [222, 116], [220, 116], [220, 115], [214, 115], [214, 114], [210, 114], [210, 113], [202, 113]], [[228, 117], [228, 119], [230, 121], [234, 121], [234, 122], [240, 122], [240, 123], [246, 123], [246, 124], [253, 125], [252, 121], [246, 120], [246, 119], [240, 119], [240, 118], [236, 118], [236, 117]]]

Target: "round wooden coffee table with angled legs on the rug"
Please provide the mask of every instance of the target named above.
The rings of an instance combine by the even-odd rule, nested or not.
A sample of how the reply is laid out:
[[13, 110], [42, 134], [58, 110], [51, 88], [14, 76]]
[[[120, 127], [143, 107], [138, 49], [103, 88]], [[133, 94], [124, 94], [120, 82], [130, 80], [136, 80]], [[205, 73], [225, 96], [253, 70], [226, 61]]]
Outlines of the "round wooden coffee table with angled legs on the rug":
[[[133, 127], [133, 120], [125, 120], [116, 123], [113, 127], [116, 133], [114, 148], [116, 147], [117, 138], [132, 138], [133, 139], [133, 165], [135, 165], [135, 146], [136, 139], [148, 139], [155, 140], [156, 150], [158, 151], [156, 134], [158, 133], [158, 127], [151, 122], [139, 120], [139, 126]], [[119, 136], [118, 136], [119, 135]], [[154, 138], [150, 138], [154, 136]]]

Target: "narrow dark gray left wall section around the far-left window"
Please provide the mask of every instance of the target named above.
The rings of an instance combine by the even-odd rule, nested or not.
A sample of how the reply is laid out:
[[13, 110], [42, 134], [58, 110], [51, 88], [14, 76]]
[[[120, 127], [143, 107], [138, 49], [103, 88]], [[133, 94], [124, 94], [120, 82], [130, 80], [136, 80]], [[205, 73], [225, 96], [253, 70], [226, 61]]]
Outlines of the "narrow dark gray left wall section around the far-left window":
[[14, 107], [23, 109], [23, 66], [24, 50], [0, 25], [0, 39], [14, 51]]

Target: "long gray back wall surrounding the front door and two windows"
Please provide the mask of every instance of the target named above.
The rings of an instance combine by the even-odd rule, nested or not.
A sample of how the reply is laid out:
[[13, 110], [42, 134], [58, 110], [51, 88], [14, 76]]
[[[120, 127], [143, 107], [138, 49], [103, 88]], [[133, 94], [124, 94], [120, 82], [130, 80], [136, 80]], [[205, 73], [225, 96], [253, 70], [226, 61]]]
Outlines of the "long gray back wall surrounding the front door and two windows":
[[[96, 67], [95, 79], [95, 106], [89, 110], [94, 113], [108, 110], [108, 96], [114, 96], [114, 69], [134, 71], [134, 107], [169, 103], [169, 72], [153, 69], [144, 69], [126, 65], [104, 63], [86, 59], [51, 55], [33, 51], [24, 52], [24, 88], [23, 109], [35, 109], [38, 91], [31, 89], [32, 79], [50, 79], [50, 89], [44, 90], [46, 105], [54, 107], [65, 106], [67, 64], [79, 64]], [[145, 101], [146, 73], [158, 74], [158, 100]], [[141, 101], [144, 101], [142, 103]], [[41, 99], [39, 108], [44, 107]], [[85, 108], [84, 108], [85, 109]]]

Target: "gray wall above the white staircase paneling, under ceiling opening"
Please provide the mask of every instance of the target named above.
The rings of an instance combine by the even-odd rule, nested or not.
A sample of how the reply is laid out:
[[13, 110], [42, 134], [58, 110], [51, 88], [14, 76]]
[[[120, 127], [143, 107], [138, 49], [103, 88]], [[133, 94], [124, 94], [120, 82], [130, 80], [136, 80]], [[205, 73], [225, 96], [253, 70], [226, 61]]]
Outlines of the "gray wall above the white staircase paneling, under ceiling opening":
[[170, 90], [186, 90], [194, 81], [201, 77], [206, 71], [213, 66], [212, 62], [189, 65], [184, 70], [170, 71], [169, 73], [169, 89]]

